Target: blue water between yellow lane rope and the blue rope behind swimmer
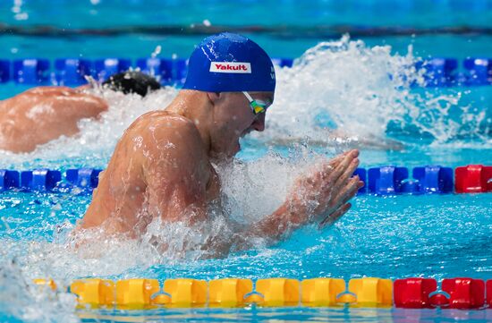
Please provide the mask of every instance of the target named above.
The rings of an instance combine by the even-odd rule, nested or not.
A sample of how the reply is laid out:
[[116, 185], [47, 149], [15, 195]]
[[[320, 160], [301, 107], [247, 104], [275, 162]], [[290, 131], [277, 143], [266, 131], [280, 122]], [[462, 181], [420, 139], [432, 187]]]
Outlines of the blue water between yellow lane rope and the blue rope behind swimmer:
[[[56, 233], [64, 229], [67, 221], [74, 223], [80, 218], [88, 202], [89, 197], [84, 195], [3, 193], [0, 238], [56, 242]], [[335, 227], [321, 231], [306, 227], [274, 248], [196, 263], [177, 261], [173, 266], [135, 266], [106, 276], [186, 276], [207, 280], [230, 276], [490, 278], [490, 194], [386, 198], [362, 195], [354, 204]], [[65, 277], [72, 273], [54, 270], [52, 275]]]

